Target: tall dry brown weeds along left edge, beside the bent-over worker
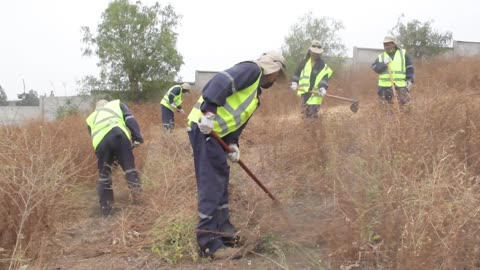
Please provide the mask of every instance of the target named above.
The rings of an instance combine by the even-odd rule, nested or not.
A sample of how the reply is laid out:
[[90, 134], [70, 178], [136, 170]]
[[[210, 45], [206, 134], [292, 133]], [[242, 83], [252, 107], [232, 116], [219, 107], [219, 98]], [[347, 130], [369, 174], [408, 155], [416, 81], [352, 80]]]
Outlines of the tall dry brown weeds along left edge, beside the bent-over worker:
[[8, 269], [42, 252], [56, 204], [88, 177], [89, 156], [74, 129], [68, 122], [0, 128], [0, 246], [12, 247]]

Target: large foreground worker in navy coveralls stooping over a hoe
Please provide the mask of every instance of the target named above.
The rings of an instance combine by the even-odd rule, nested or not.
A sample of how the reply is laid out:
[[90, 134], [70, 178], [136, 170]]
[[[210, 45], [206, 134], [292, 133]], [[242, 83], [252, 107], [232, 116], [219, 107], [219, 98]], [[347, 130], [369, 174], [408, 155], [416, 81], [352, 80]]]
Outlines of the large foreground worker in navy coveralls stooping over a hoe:
[[[259, 105], [262, 89], [269, 88], [283, 74], [281, 53], [269, 51], [256, 61], [241, 62], [217, 73], [203, 88], [188, 116], [198, 189], [200, 256], [237, 258], [237, 230], [230, 223], [228, 182], [231, 162], [240, 159], [239, 137]], [[232, 153], [210, 136], [216, 132]]]

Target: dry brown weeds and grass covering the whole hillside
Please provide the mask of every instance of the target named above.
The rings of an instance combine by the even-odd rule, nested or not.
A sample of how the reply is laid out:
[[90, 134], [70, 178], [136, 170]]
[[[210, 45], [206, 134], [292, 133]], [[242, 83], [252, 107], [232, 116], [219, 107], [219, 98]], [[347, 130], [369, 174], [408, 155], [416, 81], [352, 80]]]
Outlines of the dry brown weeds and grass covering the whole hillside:
[[[417, 65], [404, 114], [377, 106], [369, 71], [331, 87], [360, 99], [357, 114], [327, 100], [321, 119], [307, 122], [287, 86], [264, 91], [240, 148], [283, 211], [232, 166], [232, 219], [246, 239], [237, 262], [196, 255], [196, 183], [180, 115], [175, 132], [164, 134], [158, 104], [132, 106], [147, 141], [135, 150], [147, 200], [129, 205], [117, 171], [121, 211], [110, 219], [96, 213], [95, 160], [82, 117], [4, 127], [0, 266], [478, 269], [479, 70], [472, 59]], [[185, 107], [195, 100], [187, 97]]]

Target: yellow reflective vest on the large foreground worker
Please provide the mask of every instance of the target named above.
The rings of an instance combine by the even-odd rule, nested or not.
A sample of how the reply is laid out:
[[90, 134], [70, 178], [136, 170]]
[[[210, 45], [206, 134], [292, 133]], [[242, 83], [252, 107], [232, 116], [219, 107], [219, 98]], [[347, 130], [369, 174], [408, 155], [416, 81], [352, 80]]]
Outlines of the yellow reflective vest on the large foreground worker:
[[[252, 85], [233, 92], [233, 94], [227, 98], [225, 105], [217, 108], [217, 114], [213, 122], [213, 130], [220, 137], [239, 129], [255, 112], [258, 107], [257, 89], [261, 77], [262, 73], [260, 73]], [[233, 80], [231, 77], [230, 79]], [[200, 96], [195, 107], [188, 115], [189, 123], [198, 123], [198, 120], [202, 117], [203, 113], [200, 110], [202, 103], [203, 97]]]

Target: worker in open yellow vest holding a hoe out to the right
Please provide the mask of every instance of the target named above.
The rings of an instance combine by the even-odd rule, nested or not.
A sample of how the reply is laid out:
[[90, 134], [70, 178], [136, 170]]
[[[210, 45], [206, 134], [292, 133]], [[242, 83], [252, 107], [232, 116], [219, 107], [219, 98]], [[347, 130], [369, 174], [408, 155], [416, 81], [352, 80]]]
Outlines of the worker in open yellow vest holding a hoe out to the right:
[[323, 97], [327, 93], [332, 69], [322, 59], [323, 48], [313, 40], [303, 61], [298, 65], [290, 88], [301, 97], [302, 113], [306, 118], [317, 118]]

